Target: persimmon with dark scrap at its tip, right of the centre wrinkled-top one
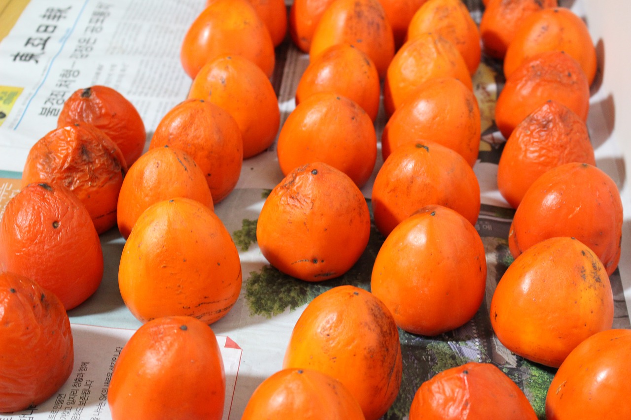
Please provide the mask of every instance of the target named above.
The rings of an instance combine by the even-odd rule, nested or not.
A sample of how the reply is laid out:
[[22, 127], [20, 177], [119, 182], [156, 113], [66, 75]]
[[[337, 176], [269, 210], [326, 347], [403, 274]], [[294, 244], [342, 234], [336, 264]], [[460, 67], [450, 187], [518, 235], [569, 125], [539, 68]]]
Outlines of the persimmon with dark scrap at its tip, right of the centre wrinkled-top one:
[[402, 144], [384, 161], [372, 186], [375, 225], [387, 236], [421, 207], [449, 207], [475, 225], [480, 184], [464, 158], [438, 143]]

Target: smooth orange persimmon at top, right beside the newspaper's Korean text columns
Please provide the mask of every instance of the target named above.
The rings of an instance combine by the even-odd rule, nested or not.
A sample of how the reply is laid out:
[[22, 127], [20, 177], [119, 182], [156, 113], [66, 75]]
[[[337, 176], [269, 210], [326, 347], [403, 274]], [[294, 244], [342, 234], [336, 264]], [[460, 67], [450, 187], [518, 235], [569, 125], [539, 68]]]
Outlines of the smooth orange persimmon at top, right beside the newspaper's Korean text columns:
[[225, 55], [241, 55], [271, 78], [274, 54], [269, 30], [248, 0], [214, 0], [189, 26], [180, 61], [194, 79], [204, 64]]

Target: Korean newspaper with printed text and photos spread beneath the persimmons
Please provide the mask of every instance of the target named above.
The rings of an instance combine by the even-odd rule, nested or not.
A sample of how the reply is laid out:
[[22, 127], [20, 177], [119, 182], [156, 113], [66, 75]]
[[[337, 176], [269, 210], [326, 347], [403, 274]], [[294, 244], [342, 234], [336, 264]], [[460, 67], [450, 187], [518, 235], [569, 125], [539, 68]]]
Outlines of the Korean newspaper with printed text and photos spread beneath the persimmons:
[[[179, 44], [187, 26], [204, 3], [203, 0], [30, 2], [23, 18], [0, 44], [3, 62], [0, 85], [13, 89], [6, 90], [7, 95], [13, 95], [12, 109], [0, 126], [0, 171], [5, 171], [0, 172], [0, 176], [3, 173], [7, 175], [7, 178], [0, 179], [0, 211], [19, 190], [18, 178], [28, 148], [45, 132], [54, 129], [54, 114], [58, 114], [62, 98], [76, 89], [95, 83], [117, 88], [139, 108], [150, 138], [162, 115], [186, 98], [191, 79], [180, 68]], [[468, 0], [465, 3], [471, 15], [479, 21], [481, 2]], [[581, 11], [580, 1], [570, 3], [573, 9]], [[47, 24], [42, 21], [42, 16], [53, 13], [49, 9], [64, 11], [64, 17], [58, 15], [59, 20], [56, 21], [56, 25], [63, 25], [63, 29], [50, 35], [42, 54], [37, 57], [37, 63], [33, 59], [27, 60], [28, 55], [16, 56], [18, 53], [36, 54], [35, 46], [30, 45], [33, 42], [29, 44], [27, 40], [37, 35], [39, 25]], [[100, 31], [91, 32], [91, 25], [100, 25]], [[152, 44], [154, 40], [155, 45]], [[27, 50], [27, 47], [33, 50]], [[83, 58], [81, 54], [87, 56]], [[298, 51], [289, 38], [277, 47], [276, 67], [271, 80], [278, 95], [281, 124], [295, 107], [295, 89], [308, 64], [308, 55]], [[62, 74], [76, 74], [76, 77], [61, 88], [57, 85], [66, 83]], [[398, 399], [384, 419], [406, 419], [411, 399], [423, 381], [445, 368], [466, 361], [499, 366], [524, 390], [540, 418], [543, 418], [545, 394], [554, 370], [531, 363], [502, 346], [493, 334], [488, 313], [495, 286], [512, 262], [507, 236], [514, 211], [497, 191], [496, 182], [497, 163], [505, 139], [494, 125], [493, 112], [502, 83], [501, 65], [485, 58], [474, 76], [483, 125], [479, 160], [474, 170], [480, 182], [483, 203], [476, 229], [487, 251], [485, 301], [470, 322], [437, 337], [423, 337], [399, 330], [404, 359], [403, 382]], [[4, 94], [0, 92], [0, 95]], [[593, 100], [598, 100], [598, 91], [594, 92]], [[3, 102], [0, 100], [0, 103]], [[599, 112], [598, 107], [592, 108], [590, 122], [598, 121]], [[378, 138], [385, 122], [386, 116], [381, 109], [375, 122]], [[624, 173], [610, 165], [615, 161], [610, 156], [618, 153], [615, 144], [606, 141], [606, 136], [598, 132], [598, 124], [590, 128], [593, 139], [603, 139], [595, 143], [598, 145], [596, 156], [599, 166], [610, 173], [618, 185], [623, 185]], [[382, 165], [380, 153], [378, 156], [372, 178], [362, 189], [369, 207], [372, 181]], [[230, 419], [240, 419], [254, 389], [282, 368], [293, 325], [312, 298], [340, 284], [370, 288], [372, 264], [384, 241], [384, 237], [372, 226], [369, 245], [362, 257], [349, 272], [337, 279], [305, 283], [282, 274], [262, 257], [256, 243], [259, 211], [269, 191], [282, 178], [274, 144], [260, 155], [244, 161], [237, 188], [215, 206], [216, 214], [232, 233], [239, 248], [244, 274], [237, 303], [224, 318], [211, 325], [216, 334], [230, 337], [242, 349], [239, 375], [235, 380], [228, 414]], [[105, 256], [102, 284], [88, 301], [69, 311], [71, 322], [73, 325], [97, 326], [95, 328], [137, 329], [141, 324], [127, 310], [118, 289], [117, 270], [125, 242], [114, 228], [101, 235], [101, 243]], [[615, 298], [614, 326], [627, 328], [631, 325], [625, 289], [631, 290], [631, 286], [628, 280], [623, 280], [621, 271], [627, 274], [628, 268], [620, 268], [610, 276]], [[97, 348], [88, 351], [98, 358]]]

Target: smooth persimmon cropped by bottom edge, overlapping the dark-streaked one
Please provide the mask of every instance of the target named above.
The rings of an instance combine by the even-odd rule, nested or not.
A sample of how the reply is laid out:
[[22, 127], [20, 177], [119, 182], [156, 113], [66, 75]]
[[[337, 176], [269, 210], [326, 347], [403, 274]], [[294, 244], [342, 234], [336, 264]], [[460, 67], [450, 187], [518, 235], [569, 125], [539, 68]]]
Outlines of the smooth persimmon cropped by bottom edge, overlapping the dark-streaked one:
[[241, 420], [364, 420], [362, 407], [336, 378], [317, 370], [288, 368], [252, 393]]

